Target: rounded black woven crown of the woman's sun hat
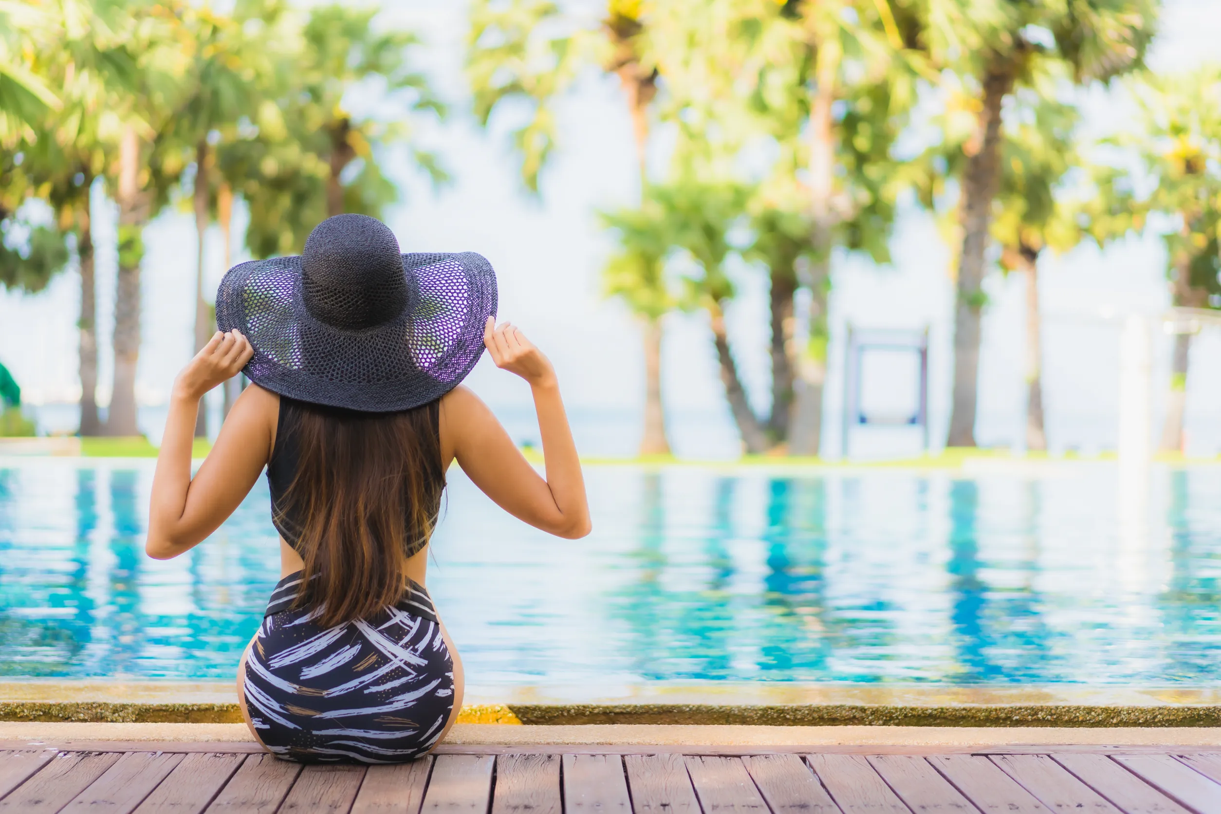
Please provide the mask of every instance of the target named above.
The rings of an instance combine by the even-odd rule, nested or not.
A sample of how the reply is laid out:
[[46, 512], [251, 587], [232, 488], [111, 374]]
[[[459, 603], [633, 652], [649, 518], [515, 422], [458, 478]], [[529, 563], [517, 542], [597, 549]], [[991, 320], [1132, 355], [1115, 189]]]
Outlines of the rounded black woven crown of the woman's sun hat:
[[315, 226], [302, 251], [302, 298], [314, 319], [348, 331], [399, 316], [408, 292], [394, 233], [368, 215]]

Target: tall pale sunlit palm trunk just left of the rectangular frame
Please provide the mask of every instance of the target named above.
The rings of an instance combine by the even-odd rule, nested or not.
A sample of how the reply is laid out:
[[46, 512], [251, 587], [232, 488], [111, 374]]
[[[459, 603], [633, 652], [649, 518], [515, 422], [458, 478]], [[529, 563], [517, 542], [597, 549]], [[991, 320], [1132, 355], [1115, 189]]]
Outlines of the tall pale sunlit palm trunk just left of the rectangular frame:
[[[811, 334], [816, 319], [825, 319], [827, 303], [822, 282], [830, 279], [832, 240], [835, 212], [835, 104], [836, 76], [842, 48], [836, 34], [823, 39], [816, 63], [814, 98], [810, 107], [810, 193], [814, 226], [811, 240], [814, 247], [812, 270], [813, 301], [811, 304]], [[822, 300], [819, 303], [819, 300]], [[796, 386], [794, 388], [792, 420], [789, 426], [789, 454], [817, 455], [823, 426], [823, 380], [825, 362], [810, 359], [808, 353], [795, 353]]]

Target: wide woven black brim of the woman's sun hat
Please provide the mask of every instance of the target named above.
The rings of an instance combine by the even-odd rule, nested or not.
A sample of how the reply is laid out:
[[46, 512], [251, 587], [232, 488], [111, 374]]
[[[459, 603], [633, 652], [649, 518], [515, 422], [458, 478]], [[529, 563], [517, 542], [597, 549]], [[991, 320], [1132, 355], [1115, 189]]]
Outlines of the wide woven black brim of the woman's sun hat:
[[216, 292], [216, 326], [250, 340], [254, 356], [243, 372], [274, 393], [365, 412], [408, 410], [470, 373], [484, 353], [484, 325], [496, 315], [497, 287], [492, 265], [470, 251], [404, 254], [403, 275], [403, 312], [347, 331], [309, 312], [300, 256], [243, 262]]

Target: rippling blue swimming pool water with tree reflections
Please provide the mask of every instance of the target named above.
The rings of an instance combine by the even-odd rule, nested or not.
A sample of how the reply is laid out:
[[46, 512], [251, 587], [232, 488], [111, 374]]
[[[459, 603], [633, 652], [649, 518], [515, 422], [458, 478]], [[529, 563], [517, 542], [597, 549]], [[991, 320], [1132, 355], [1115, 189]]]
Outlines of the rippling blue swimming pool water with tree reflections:
[[[143, 554], [151, 461], [0, 461], [0, 680], [228, 680], [278, 576], [265, 482]], [[473, 686], [1212, 683], [1221, 467], [587, 470], [551, 538], [454, 470], [429, 586]]]

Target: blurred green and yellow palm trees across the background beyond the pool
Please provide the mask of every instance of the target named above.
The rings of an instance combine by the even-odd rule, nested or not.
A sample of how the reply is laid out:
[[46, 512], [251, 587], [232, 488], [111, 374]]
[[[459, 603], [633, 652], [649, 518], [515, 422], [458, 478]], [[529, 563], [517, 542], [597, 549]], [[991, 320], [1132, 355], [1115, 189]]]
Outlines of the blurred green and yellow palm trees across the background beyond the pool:
[[[580, 77], [614, 77], [632, 123], [640, 199], [600, 214], [615, 240], [602, 290], [642, 332], [642, 454], [668, 454], [665, 317], [707, 314], [725, 398], [753, 454], [817, 455], [827, 309], [836, 253], [889, 261], [897, 207], [937, 215], [954, 250], [949, 444], [974, 444], [982, 281], [1027, 281], [1027, 445], [1045, 449], [1039, 259], [1156, 228], [1183, 308], [1221, 305], [1221, 73], [1151, 76], [1156, 0], [473, 0], [466, 78], [484, 127], [514, 110], [523, 192], [559, 144], [556, 106]], [[63, 268], [82, 286], [82, 434], [134, 434], [140, 231], [165, 206], [225, 234], [236, 200], [254, 258], [300, 250], [320, 220], [379, 216], [398, 190], [382, 148], [416, 142], [447, 105], [416, 66], [413, 32], [376, 7], [237, 0], [0, 2], [0, 284], [37, 292]], [[1139, 126], [1094, 138], [1081, 104], [1110, 84]], [[354, 88], [381, 104], [350, 107]], [[116, 391], [94, 404], [90, 190], [118, 204]], [[40, 201], [40, 205], [32, 205]], [[735, 364], [726, 264], [767, 278], [772, 387], [756, 409]], [[195, 344], [212, 311], [195, 287]], [[1176, 345], [1182, 393], [1190, 334]], [[1175, 398], [1172, 393], [1172, 402]], [[1177, 415], [1177, 417], [1176, 417]], [[200, 416], [200, 436], [208, 427]], [[1171, 409], [1164, 445], [1182, 445]]]

